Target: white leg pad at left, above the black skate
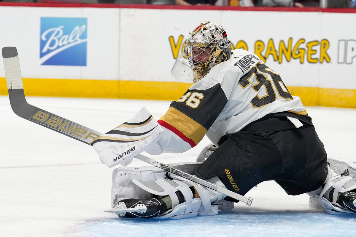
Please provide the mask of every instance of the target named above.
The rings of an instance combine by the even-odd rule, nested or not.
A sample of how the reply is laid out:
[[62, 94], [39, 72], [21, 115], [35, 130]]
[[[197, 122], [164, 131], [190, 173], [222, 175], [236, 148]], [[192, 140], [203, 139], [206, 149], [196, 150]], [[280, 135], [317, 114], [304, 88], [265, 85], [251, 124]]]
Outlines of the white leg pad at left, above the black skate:
[[[171, 164], [171, 166], [194, 174], [200, 164], [198, 162], [175, 163]], [[171, 174], [173, 180], [168, 179], [165, 174], [166, 171], [153, 166], [114, 169], [112, 174], [111, 206], [115, 207], [116, 203], [124, 198], [148, 199], [152, 198], [152, 194], [154, 194], [158, 196], [169, 195], [172, 200], [172, 209], [156, 217], [156, 219], [180, 219], [197, 215], [216, 215], [218, 214], [218, 209], [231, 210], [234, 208], [233, 203], [228, 201], [220, 201], [216, 205], [211, 205], [211, 202], [220, 200], [225, 196], [174, 174]], [[216, 183], [219, 186], [223, 185], [217, 177], [215, 179], [213, 178], [209, 182]], [[200, 198], [193, 198], [192, 191], [189, 188], [192, 186], [197, 190]], [[184, 203], [179, 204], [178, 202], [176, 194], [178, 190], [184, 196]]]

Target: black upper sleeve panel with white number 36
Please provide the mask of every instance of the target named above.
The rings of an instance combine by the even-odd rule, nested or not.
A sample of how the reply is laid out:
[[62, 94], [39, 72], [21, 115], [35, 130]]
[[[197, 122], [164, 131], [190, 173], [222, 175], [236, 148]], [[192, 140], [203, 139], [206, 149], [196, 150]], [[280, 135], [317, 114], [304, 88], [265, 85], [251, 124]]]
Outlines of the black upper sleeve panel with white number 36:
[[173, 101], [171, 107], [184, 113], [206, 130], [215, 122], [227, 103], [220, 84], [206, 90], [187, 90], [182, 98]]

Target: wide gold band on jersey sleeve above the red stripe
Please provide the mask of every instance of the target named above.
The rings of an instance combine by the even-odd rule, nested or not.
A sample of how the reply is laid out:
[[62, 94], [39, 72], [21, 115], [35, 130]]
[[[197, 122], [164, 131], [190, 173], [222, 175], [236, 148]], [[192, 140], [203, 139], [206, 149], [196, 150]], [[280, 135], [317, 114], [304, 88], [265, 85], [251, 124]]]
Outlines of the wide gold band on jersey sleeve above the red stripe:
[[193, 140], [195, 144], [198, 144], [207, 132], [207, 130], [195, 120], [173, 107], [169, 107], [167, 113], [164, 114], [160, 120], [178, 129], [184, 136]]

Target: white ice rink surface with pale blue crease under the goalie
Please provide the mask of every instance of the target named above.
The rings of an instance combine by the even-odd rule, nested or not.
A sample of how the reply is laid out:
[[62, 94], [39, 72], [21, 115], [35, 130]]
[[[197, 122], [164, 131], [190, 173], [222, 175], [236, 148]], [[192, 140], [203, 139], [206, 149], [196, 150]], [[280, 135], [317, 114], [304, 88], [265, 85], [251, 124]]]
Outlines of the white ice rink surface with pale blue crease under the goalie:
[[[169, 101], [27, 97], [37, 107], [106, 132], [143, 106], [155, 118]], [[356, 161], [356, 109], [307, 107], [329, 157]], [[0, 96], [0, 236], [354, 236], [356, 215], [310, 209], [308, 196], [288, 196], [274, 182], [248, 192], [216, 216], [182, 220], [119, 219], [110, 209], [112, 169], [88, 145], [17, 117]], [[195, 161], [208, 143], [182, 154], [151, 156], [162, 163]], [[133, 161], [130, 166], [146, 166]]]

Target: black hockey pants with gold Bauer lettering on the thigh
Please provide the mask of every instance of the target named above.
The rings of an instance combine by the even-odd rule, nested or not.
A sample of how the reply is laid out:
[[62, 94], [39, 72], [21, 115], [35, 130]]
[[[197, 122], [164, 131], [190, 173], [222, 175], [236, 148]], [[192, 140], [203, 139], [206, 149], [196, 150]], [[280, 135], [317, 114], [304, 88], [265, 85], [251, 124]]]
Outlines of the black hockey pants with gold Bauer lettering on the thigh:
[[[296, 128], [286, 116], [298, 118], [303, 126]], [[324, 145], [311, 118], [283, 112], [223, 136], [196, 174], [203, 179], [218, 176], [227, 189], [241, 195], [267, 180], [276, 181], [289, 195], [298, 195], [324, 183], [326, 166]]]

